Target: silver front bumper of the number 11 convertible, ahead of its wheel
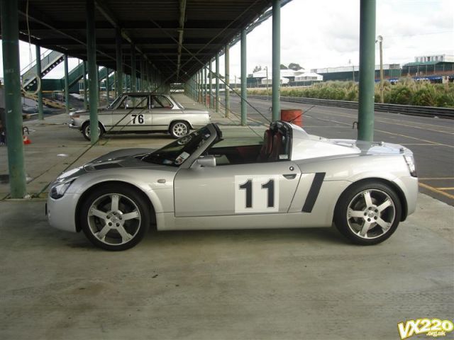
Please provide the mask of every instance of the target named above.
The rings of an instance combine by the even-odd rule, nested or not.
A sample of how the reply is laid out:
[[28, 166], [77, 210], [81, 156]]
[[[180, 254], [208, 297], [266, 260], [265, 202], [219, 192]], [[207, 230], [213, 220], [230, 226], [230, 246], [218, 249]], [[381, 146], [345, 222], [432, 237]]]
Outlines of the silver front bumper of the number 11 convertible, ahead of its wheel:
[[65, 196], [57, 200], [48, 196], [46, 215], [49, 224], [67, 232], [77, 232], [74, 216], [78, 200], [79, 194], [77, 193], [65, 193]]

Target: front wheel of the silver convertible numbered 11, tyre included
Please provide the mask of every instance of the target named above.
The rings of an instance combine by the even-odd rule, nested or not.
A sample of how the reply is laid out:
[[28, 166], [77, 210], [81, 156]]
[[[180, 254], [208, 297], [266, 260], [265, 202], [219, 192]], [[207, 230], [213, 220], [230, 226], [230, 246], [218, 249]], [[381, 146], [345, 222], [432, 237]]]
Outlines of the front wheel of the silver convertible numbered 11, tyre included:
[[111, 251], [130, 249], [150, 225], [150, 204], [138, 191], [121, 184], [101, 186], [84, 198], [79, 223], [95, 246]]

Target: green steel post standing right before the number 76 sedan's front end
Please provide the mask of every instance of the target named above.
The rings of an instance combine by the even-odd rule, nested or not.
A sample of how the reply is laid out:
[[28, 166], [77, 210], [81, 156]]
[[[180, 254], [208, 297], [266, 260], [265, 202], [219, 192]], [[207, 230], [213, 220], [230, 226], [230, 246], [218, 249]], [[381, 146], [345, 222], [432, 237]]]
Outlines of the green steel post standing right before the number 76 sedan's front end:
[[98, 142], [98, 84], [96, 81], [96, 37], [94, 28], [94, 0], [87, 0], [87, 60], [90, 106], [90, 141], [92, 145]]

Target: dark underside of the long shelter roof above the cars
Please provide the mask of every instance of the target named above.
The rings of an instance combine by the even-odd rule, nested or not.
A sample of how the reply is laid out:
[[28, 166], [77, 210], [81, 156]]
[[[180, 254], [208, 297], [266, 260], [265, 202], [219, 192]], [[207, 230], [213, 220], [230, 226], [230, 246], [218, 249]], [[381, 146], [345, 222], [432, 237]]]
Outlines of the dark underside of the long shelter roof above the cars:
[[[163, 79], [176, 82], [185, 81], [201, 62], [211, 60], [242, 28], [270, 8], [271, 0], [95, 0], [95, 4], [98, 64], [116, 69], [114, 26], [118, 25], [123, 32], [126, 73], [131, 72], [131, 40]], [[86, 1], [19, 0], [19, 11], [21, 40], [28, 41], [28, 12], [33, 43], [87, 60]], [[181, 53], [180, 13], [184, 13]], [[137, 52], [137, 62], [145, 58], [143, 55]]]

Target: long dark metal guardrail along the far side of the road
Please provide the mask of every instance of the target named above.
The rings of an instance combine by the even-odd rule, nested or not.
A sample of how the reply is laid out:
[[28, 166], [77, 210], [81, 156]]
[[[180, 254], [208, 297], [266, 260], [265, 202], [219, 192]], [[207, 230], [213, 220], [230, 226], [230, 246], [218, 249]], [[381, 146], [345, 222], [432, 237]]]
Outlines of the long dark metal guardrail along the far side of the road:
[[[271, 96], [248, 95], [248, 98], [271, 101]], [[321, 106], [336, 106], [338, 108], [358, 109], [358, 101], [333, 101], [331, 99], [301, 98], [281, 96], [281, 101], [303, 103]], [[401, 113], [402, 115], [420, 115], [423, 117], [438, 117], [454, 119], [454, 108], [436, 108], [433, 106], [410, 106], [397, 104], [375, 103], [375, 111]]]

